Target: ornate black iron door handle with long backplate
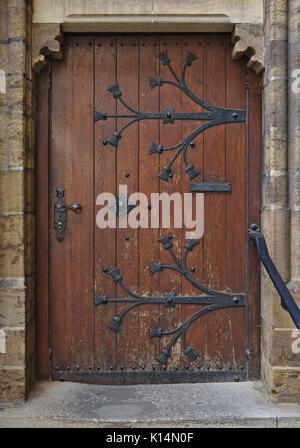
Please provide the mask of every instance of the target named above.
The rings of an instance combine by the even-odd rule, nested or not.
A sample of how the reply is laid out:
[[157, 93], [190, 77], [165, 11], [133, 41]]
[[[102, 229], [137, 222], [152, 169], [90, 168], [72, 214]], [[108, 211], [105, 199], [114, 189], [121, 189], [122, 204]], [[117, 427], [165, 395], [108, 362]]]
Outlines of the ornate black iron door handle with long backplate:
[[61, 243], [64, 240], [64, 232], [67, 229], [67, 211], [71, 210], [76, 215], [79, 215], [82, 212], [82, 207], [76, 202], [67, 205], [63, 200], [65, 195], [65, 190], [63, 188], [57, 188], [56, 195], [58, 200], [57, 203], [54, 204], [54, 228], [56, 230], [56, 239]]

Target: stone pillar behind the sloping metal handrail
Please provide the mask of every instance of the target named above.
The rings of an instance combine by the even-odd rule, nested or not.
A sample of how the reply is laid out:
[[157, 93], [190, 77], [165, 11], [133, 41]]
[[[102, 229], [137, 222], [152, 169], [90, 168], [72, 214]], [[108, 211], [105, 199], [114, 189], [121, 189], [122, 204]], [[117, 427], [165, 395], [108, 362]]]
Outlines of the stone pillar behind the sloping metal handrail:
[[[299, 227], [298, 230], [295, 227], [297, 194], [292, 191], [297, 179], [296, 150], [292, 149], [292, 146], [295, 146], [296, 135], [299, 134], [296, 132], [297, 118], [291, 116], [296, 113], [296, 99], [291, 103], [288, 85], [288, 59], [291, 56], [288, 49], [290, 45], [294, 45], [289, 42], [291, 38], [289, 31], [291, 27], [295, 28], [296, 21], [299, 20], [299, 12], [297, 20], [292, 19], [291, 14], [295, 14], [296, 11], [290, 11], [289, 14], [288, 9], [289, 5], [291, 7], [296, 3], [299, 4], [299, 1], [265, 1], [262, 229], [270, 255], [286, 283], [290, 282], [291, 275], [297, 277], [299, 272], [299, 263], [297, 267], [296, 259], [290, 256], [297, 250], [299, 256], [299, 247], [296, 248], [296, 242], [299, 241]], [[297, 39], [299, 40], [299, 34]], [[292, 224], [291, 209], [294, 210]], [[297, 300], [295, 295], [294, 297]], [[268, 391], [279, 400], [300, 399], [300, 355], [293, 352], [294, 337], [297, 337], [294, 330], [295, 326], [289, 314], [281, 307], [280, 298], [263, 270], [262, 376]]]

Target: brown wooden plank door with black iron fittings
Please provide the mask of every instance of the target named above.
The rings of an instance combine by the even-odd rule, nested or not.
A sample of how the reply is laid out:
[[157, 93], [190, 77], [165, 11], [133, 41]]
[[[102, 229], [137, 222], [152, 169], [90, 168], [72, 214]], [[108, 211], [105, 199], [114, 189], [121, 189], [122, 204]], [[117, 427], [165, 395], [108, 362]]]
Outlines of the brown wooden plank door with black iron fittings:
[[[260, 96], [245, 61], [231, 59], [230, 35], [66, 36], [63, 61], [40, 76], [38, 122], [38, 214], [50, 198], [49, 235], [45, 213], [37, 221], [41, 376], [257, 378], [259, 265], [247, 229], [260, 214]], [[149, 222], [151, 193], [193, 191], [195, 205], [202, 192], [203, 236], [187, 240], [162, 217], [120, 228], [122, 212], [137, 210], [122, 195], [108, 204], [116, 228], [99, 228], [98, 196], [120, 185], [147, 196]], [[63, 236], [58, 188], [82, 207], [62, 209]]]

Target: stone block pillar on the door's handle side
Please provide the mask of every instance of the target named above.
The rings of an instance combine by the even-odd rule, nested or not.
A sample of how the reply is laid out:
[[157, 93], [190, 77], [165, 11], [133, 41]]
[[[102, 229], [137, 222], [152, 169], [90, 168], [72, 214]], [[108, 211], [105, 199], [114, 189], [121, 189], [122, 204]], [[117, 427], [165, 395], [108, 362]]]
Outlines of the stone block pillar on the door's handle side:
[[0, 399], [34, 375], [31, 0], [0, 2]]

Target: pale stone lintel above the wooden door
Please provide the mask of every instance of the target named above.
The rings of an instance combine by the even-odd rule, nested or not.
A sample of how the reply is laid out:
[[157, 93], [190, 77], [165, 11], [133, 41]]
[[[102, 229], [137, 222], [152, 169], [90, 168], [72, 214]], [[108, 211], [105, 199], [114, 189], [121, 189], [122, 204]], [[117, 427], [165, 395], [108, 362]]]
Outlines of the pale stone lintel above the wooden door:
[[[185, 20], [190, 22], [191, 18], [196, 17], [198, 31], [201, 31], [201, 22], [215, 22], [216, 25], [263, 23], [262, 0], [34, 0], [33, 11], [33, 23], [64, 23], [64, 29], [68, 31], [74, 31], [74, 24], [75, 30], [79, 31], [76, 25], [80, 23], [87, 27], [96, 24], [98, 31], [109, 31], [103, 29], [103, 25], [108, 23], [110, 31], [116, 32], [120, 30], [112, 26], [122, 20], [131, 23], [131, 26], [134, 22], [148, 22], [155, 27], [159, 21], [170, 22], [169, 17], [179, 17], [181, 23]], [[176, 30], [177, 28], [173, 29]]]

